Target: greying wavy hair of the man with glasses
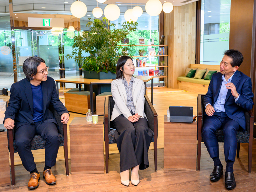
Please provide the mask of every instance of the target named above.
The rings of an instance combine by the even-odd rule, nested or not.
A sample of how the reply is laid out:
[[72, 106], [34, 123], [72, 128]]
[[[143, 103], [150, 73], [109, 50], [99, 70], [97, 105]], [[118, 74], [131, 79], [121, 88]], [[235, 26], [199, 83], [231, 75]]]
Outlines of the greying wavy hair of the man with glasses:
[[24, 61], [22, 69], [28, 81], [33, 80], [32, 76], [36, 75], [37, 67], [40, 63], [45, 63], [41, 57], [29, 57]]

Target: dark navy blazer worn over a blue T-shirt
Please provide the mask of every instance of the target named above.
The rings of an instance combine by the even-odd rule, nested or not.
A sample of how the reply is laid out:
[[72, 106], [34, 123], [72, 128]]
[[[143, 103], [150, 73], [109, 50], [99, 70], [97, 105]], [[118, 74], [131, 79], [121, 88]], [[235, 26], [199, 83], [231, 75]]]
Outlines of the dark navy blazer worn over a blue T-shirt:
[[[57, 95], [55, 81], [52, 77], [47, 77], [42, 81], [43, 102], [44, 102], [44, 122], [53, 122], [57, 124], [55, 117], [49, 110], [49, 105], [53, 105], [59, 115], [68, 113]], [[5, 111], [4, 120], [11, 118], [15, 121], [14, 130], [24, 124], [34, 124], [33, 121], [33, 97], [30, 81], [27, 78], [12, 84], [11, 95], [8, 108]]]

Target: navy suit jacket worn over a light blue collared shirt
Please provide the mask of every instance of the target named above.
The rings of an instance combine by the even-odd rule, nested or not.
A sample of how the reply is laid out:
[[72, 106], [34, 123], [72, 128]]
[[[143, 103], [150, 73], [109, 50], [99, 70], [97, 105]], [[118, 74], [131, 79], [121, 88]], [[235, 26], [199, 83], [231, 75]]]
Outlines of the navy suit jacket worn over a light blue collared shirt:
[[[208, 92], [204, 96], [204, 107], [208, 103], [213, 106], [217, 101], [222, 84], [221, 77], [222, 74], [220, 72], [212, 75]], [[238, 100], [235, 101], [235, 98], [231, 94], [231, 90], [228, 89], [224, 104], [225, 112], [230, 119], [235, 120], [245, 130], [244, 111], [250, 111], [253, 106], [252, 80], [242, 72], [236, 71], [231, 83], [236, 86], [236, 91], [240, 96]]]

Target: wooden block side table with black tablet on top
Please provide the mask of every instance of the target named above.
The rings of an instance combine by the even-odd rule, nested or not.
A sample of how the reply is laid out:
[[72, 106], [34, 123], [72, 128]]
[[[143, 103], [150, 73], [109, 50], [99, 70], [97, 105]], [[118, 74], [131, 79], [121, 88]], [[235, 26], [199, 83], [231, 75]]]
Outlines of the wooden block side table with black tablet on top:
[[164, 115], [164, 171], [196, 171], [196, 120], [170, 122]]

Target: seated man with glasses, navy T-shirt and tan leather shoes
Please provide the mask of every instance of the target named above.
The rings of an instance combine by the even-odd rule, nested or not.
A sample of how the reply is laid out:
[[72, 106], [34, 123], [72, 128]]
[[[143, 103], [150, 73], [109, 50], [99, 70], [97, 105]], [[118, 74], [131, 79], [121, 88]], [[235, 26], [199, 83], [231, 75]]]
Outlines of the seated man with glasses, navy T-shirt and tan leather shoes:
[[40, 135], [46, 140], [43, 177], [48, 185], [56, 183], [51, 169], [56, 163], [60, 138], [57, 121], [49, 110], [49, 105], [53, 105], [61, 115], [61, 122], [64, 124], [68, 123], [69, 113], [57, 95], [53, 78], [47, 77], [48, 67], [42, 58], [26, 59], [22, 69], [26, 78], [11, 86], [4, 127], [14, 128], [17, 151], [23, 166], [30, 172], [28, 188], [34, 189], [39, 186], [40, 174], [29, 148], [30, 142], [35, 135]]

